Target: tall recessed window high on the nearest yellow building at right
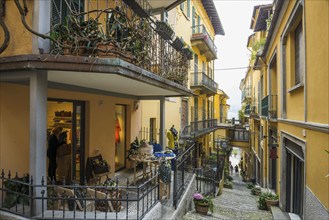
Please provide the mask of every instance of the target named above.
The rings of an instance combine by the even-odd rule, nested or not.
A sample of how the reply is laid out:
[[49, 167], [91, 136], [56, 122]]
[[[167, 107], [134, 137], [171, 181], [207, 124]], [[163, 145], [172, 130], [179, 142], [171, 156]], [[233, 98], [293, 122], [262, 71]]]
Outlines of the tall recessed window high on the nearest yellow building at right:
[[295, 30], [295, 85], [302, 83], [304, 74], [303, 27], [299, 23]]

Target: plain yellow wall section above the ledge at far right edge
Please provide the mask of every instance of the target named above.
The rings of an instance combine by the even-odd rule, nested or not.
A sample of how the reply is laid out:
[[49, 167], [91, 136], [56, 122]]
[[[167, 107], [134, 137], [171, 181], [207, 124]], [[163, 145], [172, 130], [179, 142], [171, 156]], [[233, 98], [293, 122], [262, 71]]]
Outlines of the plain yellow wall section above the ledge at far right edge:
[[305, 1], [307, 121], [329, 124], [329, 1]]

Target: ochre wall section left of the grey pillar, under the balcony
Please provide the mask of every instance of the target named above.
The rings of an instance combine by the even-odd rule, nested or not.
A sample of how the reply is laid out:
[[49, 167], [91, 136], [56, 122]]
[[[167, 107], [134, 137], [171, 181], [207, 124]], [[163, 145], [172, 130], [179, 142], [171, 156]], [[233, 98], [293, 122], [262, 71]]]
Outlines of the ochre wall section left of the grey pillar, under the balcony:
[[0, 97], [0, 167], [21, 176], [29, 172], [29, 90], [0, 83]]

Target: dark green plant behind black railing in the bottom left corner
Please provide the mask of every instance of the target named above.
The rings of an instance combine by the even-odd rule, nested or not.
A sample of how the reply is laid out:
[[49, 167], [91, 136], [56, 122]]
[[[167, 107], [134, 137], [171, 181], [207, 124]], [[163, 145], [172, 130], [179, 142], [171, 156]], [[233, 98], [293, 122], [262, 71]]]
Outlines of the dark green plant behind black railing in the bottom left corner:
[[25, 174], [23, 177], [14, 177], [3, 182], [6, 187], [6, 196], [3, 207], [10, 209], [17, 203], [29, 204], [29, 180], [30, 175]]

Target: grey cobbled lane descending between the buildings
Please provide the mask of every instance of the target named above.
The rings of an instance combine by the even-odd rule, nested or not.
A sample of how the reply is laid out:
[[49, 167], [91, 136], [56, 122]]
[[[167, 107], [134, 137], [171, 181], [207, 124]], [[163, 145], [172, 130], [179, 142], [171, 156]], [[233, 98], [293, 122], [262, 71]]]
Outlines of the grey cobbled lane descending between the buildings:
[[206, 219], [273, 219], [269, 211], [257, 208], [257, 196], [250, 194], [250, 189], [242, 182], [240, 176], [233, 174], [233, 189], [223, 189], [222, 195], [216, 197], [214, 212], [208, 215], [200, 215], [194, 210], [184, 216], [184, 220], [206, 220]]

